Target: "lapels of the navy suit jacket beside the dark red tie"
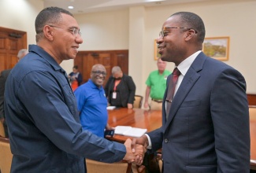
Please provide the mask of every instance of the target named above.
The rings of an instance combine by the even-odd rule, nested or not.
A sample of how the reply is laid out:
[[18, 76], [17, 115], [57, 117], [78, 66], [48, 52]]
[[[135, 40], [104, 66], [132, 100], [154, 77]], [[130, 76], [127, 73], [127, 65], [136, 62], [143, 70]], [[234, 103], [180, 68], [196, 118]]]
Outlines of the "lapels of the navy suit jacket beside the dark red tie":
[[[180, 83], [180, 87], [177, 90], [175, 97], [173, 98], [168, 120], [165, 119], [166, 117], [164, 113], [165, 110], [163, 110], [163, 114], [165, 115], [163, 119], [164, 119], [164, 122], [166, 122], [165, 130], [169, 126], [169, 123], [172, 122], [173, 117], [176, 116], [176, 112], [178, 111], [178, 109], [180, 109], [180, 105], [182, 104], [184, 99], [187, 97], [187, 94], [189, 93], [191, 88], [195, 85], [196, 81], [200, 78], [200, 75], [198, 74], [198, 72], [202, 70], [202, 66], [205, 60], [206, 60], [206, 55], [204, 53], [199, 53], [198, 57], [196, 57], [195, 61], [191, 64], [191, 67], [188, 68], [187, 73], [186, 75], [184, 75], [184, 79], [182, 80], [182, 83]], [[165, 98], [166, 98], [166, 90], [165, 90]], [[164, 102], [164, 105], [165, 105], [165, 102]], [[165, 109], [164, 105], [163, 105], [163, 109]]]

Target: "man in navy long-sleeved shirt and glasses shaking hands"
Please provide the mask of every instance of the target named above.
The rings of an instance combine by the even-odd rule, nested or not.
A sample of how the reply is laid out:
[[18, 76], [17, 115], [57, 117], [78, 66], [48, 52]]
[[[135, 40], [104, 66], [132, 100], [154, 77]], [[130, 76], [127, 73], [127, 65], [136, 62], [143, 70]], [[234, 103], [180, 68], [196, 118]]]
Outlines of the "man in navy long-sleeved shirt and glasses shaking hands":
[[6, 81], [11, 172], [84, 173], [84, 157], [141, 164], [142, 145], [139, 153], [132, 153], [131, 140], [124, 145], [109, 142], [80, 125], [76, 98], [59, 65], [74, 59], [83, 42], [72, 14], [58, 7], [43, 9], [35, 19], [35, 31], [37, 45], [29, 46], [28, 55]]

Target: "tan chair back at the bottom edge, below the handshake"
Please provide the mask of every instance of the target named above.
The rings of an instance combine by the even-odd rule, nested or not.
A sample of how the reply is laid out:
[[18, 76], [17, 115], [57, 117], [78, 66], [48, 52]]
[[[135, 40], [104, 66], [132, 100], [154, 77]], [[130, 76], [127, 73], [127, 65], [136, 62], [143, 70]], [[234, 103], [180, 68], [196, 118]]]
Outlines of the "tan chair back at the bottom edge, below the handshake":
[[[87, 173], [127, 173], [128, 163], [118, 162], [107, 164], [95, 160], [85, 159]], [[131, 170], [129, 171], [131, 172]]]

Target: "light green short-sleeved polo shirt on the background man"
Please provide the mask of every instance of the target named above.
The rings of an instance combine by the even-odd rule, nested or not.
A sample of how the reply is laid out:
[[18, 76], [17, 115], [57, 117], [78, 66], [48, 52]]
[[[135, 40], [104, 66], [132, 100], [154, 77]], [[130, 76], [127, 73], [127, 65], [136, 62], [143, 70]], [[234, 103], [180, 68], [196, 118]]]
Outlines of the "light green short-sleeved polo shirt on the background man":
[[164, 98], [165, 89], [166, 89], [166, 79], [171, 72], [165, 70], [161, 75], [158, 70], [150, 72], [150, 75], [147, 78], [146, 84], [150, 86], [150, 98], [156, 100], [162, 100]]

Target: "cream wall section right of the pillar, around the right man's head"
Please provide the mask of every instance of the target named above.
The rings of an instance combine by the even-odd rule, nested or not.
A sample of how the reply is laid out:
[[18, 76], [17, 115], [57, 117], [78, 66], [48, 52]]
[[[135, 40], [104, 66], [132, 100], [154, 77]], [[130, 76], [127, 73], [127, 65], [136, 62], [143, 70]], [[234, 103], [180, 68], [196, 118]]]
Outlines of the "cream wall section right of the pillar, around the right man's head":
[[[153, 45], [150, 42], [153, 42], [153, 35], [157, 36], [161, 25], [171, 14], [178, 11], [197, 13], [206, 25], [206, 37], [230, 37], [229, 60], [224, 63], [243, 74], [247, 81], [247, 93], [256, 94], [255, 9], [255, 1], [216, 1], [147, 8], [145, 43], [147, 50], [152, 51], [146, 51], [145, 56], [152, 57]], [[154, 63], [149, 62], [147, 67], [146, 71], [150, 72], [150, 68], [154, 68]]]

